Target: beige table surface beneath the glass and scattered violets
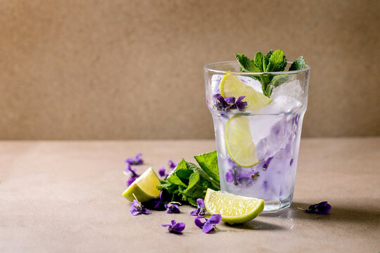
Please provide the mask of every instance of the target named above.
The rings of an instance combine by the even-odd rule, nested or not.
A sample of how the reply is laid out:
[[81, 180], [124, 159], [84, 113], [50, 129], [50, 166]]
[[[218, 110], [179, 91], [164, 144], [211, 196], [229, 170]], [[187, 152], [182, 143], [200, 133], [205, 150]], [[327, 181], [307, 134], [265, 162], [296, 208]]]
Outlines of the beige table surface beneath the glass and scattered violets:
[[[1, 141], [0, 252], [379, 252], [380, 138], [303, 139], [293, 204], [213, 234], [181, 214], [132, 216], [121, 193], [126, 157], [168, 159], [214, 141]], [[304, 214], [323, 200], [327, 216]], [[162, 223], [184, 221], [183, 235]]]

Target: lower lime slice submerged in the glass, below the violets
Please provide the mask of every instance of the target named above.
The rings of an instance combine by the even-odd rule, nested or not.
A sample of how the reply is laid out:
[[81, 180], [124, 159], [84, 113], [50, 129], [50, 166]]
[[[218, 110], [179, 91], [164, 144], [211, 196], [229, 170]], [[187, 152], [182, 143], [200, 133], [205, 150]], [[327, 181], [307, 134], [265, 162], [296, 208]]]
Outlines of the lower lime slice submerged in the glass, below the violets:
[[256, 147], [246, 116], [234, 116], [229, 119], [224, 129], [226, 148], [236, 164], [241, 167], [252, 167], [258, 164]]

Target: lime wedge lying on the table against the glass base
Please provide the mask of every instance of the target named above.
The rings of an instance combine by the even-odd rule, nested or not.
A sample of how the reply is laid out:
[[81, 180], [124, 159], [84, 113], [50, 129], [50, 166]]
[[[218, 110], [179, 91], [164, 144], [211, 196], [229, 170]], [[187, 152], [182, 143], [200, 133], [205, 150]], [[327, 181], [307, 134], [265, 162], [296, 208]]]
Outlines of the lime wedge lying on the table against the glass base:
[[255, 219], [264, 209], [264, 200], [207, 189], [205, 208], [210, 214], [222, 215], [222, 221], [234, 224]]

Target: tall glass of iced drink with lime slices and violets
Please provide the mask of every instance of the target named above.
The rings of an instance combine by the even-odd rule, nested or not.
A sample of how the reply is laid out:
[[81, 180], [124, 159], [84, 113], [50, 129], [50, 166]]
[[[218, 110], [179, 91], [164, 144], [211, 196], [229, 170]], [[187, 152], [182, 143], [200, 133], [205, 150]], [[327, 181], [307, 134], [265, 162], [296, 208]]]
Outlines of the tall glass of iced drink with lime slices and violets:
[[220, 188], [265, 200], [264, 212], [291, 205], [308, 104], [310, 67], [284, 59], [286, 70], [292, 66], [284, 72], [248, 72], [238, 61], [204, 68]]

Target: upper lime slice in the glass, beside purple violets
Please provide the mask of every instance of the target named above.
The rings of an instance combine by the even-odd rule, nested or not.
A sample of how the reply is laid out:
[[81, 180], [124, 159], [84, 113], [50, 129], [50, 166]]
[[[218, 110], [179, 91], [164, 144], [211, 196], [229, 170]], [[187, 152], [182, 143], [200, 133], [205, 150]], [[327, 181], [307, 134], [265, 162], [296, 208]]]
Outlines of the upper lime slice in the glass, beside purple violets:
[[222, 95], [223, 98], [233, 96], [236, 99], [239, 98], [239, 96], [246, 96], [243, 99], [243, 101], [248, 103], [246, 110], [258, 110], [273, 101], [264, 94], [255, 91], [251, 86], [243, 83], [239, 77], [233, 74], [224, 75], [220, 82], [220, 95]]

